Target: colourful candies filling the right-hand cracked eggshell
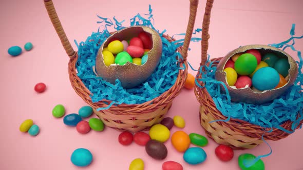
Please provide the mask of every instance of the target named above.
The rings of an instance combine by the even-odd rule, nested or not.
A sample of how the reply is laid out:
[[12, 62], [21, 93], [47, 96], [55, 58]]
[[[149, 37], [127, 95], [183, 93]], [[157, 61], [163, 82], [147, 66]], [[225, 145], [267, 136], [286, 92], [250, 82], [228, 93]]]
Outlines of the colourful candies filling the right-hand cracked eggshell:
[[237, 89], [250, 87], [255, 92], [283, 87], [287, 83], [289, 69], [287, 58], [274, 53], [261, 57], [256, 49], [235, 54], [224, 66], [229, 86]]

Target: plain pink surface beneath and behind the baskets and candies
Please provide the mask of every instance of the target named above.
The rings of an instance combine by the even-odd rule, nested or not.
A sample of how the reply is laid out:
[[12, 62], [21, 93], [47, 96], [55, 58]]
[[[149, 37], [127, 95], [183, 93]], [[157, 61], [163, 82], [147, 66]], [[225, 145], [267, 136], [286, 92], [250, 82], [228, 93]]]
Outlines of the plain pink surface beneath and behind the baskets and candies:
[[[128, 19], [137, 13], [147, 13], [148, 4], [153, 8], [155, 27], [166, 29], [169, 35], [184, 33], [188, 19], [189, 1], [80, 1], [55, 0], [56, 11], [65, 32], [73, 43], [86, 39], [97, 31], [98, 18], [116, 16]], [[296, 35], [303, 34], [302, 2], [297, 1], [215, 1], [210, 26], [210, 48], [212, 57], [224, 56], [240, 45], [271, 44], [290, 37], [291, 24], [296, 23]], [[201, 28], [205, 1], [200, 1], [195, 28]], [[203, 147], [207, 159], [196, 166], [186, 164], [170, 141], [165, 144], [168, 156], [157, 161], [150, 158], [142, 146], [132, 143], [122, 146], [118, 142], [119, 132], [106, 128], [104, 132], [91, 131], [79, 134], [75, 128], [63, 123], [63, 118], [51, 115], [54, 105], [62, 103], [66, 113], [78, 113], [86, 103], [73, 91], [67, 73], [68, 57], [49, 20], [42, 0], [1, 1], [0, 20], [0, 94], [1, 94], [1, 140], [0, 169], [128, 169], [135, 158], [142, 158], [145, 169], [161, 169], [164, 161], [181, 163], [184, 169], [239, 169], [237, 158], [242, 153], [262, 155], [269, 153], [266, 144], [247, 151], [235, 151], [231, 162], [219, 161], [215, 154], [217, 144], [210, 140]], [[128, 26], [128, 23], [125, 24]], [[196, 36], [200, 37], [201, 33]], [[180, 37], [181, 38], [181, 37]], [[7, 50], [30, 41], [34, 48], [18, 57], [11, 57]], [[297, 40], [295, 47], [303, 50], [303, 41]], [[188, 61], [194, 68], [200, 62], [200, 43], [192, 42]], [[293, 52], [287, 51], [291, 55]], [[196, 72], [189, 70], [196, 75]], [[37, 94], [33, 90], [37, 82], [47, 84], [47, 91]], [[174, 100], [167, 116], [181, 115], [186, 121], [186, 133], [205, 135], [199, 124], [199, 103], [193, 91], [183, 90]], [[33, 119], [41, 132], [36, 137], [19, 131], [25, 119]], [[86, 119], [88, 120], [88, 119]], [[179, 130], [174, 127], [172, 133]], [[296, 131], [286, 139], [270, 141], [273, 154], [264, 158], [266, 169], [303, 169], [301, 153], [303, 131]], [[93, 163], [86, 168], [75, 167], [70, 155], [76, 148], [88, 148], [93, 154]]]

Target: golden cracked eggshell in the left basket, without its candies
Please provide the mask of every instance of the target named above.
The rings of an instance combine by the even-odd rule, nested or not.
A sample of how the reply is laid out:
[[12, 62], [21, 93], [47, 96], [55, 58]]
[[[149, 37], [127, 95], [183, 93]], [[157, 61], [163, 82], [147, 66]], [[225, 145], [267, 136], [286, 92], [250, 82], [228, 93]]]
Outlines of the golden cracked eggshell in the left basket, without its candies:
[[[133, 63], [127, 62], [123, 66], [106, 66], [103, 61], [102, 51], [107, 47], [110, 40], [113, 38], [118, 39], [131, 39], [138, 36], [140, 32], [149, 34], [153, 41], [153, 48], [148, 51], [148, 59], [144, 65], [138, 66]], [[121, 81], [122, 87], [132, 88], [144, 82], [156, 69], [160, 62], [162, 55], [162, 40], [158, 32], [145, 26], [132, 26], [121, 29], [110, 35], [101, 45], [96, 57], [96, 72], [98, 76], [104, 78], [106, 81], [115, 84], [116, 79]]]

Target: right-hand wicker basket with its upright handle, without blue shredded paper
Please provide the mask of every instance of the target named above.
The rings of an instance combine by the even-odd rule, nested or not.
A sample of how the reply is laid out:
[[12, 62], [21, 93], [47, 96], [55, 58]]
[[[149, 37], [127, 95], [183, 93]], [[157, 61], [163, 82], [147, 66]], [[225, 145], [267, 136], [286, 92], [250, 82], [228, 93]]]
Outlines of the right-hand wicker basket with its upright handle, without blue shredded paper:
[[[206, 2], [202, 25], [202, 54], [200, 66], [205, 66], [205, 62], [207, 60], [207, 49], [209, 47], [208, 40], [210, 38], [209, 26], [213, 3], [214, 0], [207, 0]], [[220, 59], [221, 58], [214, 58], [212, 60], [220, 61]], [[215, 63], [213, 65], [215, 65]], [[196, 78], [202, 78], [200, 72], [198, 72]], [[201, 86], [204, 86], [203, 82], [198, 82]], [[226, 117], [217, 110], [216, 105], [211, 95], [207, 92], [206, 88], [199, 88], [197, 85], [195, 85], [194, 91], [198, 101], [200, 102], [200, 123], [204, 128], [207, 136], [214, 139], [215, 142], [219, 144], [229, 145], [236, 149], [253, 148], [262, 143], [262, 135], [264, 135], [264, 140], [279, 140], [290, 135], [289, 133], [275, 128], [273, 128], [273, 131], [271, 133], [264, 134], [264, 128], [261, 126], [233, 118], [227, 122], [217, 121], [209, 123], [213, 120], [226, 119]], [[303, 123], [303, 120], [300, 123]], [[292, 122], [287, 121], [283, 123], [281, 127], [291, 131], [291, 125]], [[266, 131], [269, 130], [270, 129], [266, 129]]]

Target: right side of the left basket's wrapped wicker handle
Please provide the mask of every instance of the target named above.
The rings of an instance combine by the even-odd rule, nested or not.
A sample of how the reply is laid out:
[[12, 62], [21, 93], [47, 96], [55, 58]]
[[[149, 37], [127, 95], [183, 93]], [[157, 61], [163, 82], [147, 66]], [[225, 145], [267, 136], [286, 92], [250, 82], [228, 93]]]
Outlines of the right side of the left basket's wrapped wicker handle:
[[183, 44], [183, 48], [181, 51], [181, 55], [183, 56], [184, 59], [187, 57], [188, 47], [190, 46], [190, 42], [191, 42], [193, 30], [194, 30], [198, 2], [199, 2], [199, 0], [190, 0], [190, 18], [188, 19], [184, 44]]

